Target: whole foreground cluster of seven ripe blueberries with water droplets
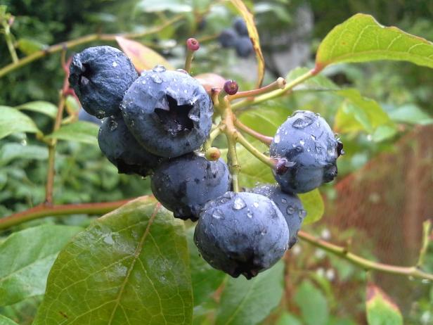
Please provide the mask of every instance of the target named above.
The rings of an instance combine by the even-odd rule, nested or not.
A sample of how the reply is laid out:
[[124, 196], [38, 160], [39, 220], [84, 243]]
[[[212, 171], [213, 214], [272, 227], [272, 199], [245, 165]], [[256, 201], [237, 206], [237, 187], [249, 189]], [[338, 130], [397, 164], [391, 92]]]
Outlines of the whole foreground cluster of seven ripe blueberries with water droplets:
[[[231, 276], [250, 279], [278, 262], [306, 216], [296, 193], [337, 174], [342, 145], [314, 113], [296, 112], [273, 138], [279, 185], [236, 193], [219, 150], [198, 151], [213, 104], [184, 70], [157, 65], [138, 77], [124, 53], [98, 46], [74, 56], [70, 84], [87, 113], [105, 117], [98, 144], [108, 160], [119, 173], [150, 176], [155, 198], [174, 217], [198, 220], [194, 241], [202, 257]], [[224, 91], [235, 94], [238, 85], [228, 80]]]

